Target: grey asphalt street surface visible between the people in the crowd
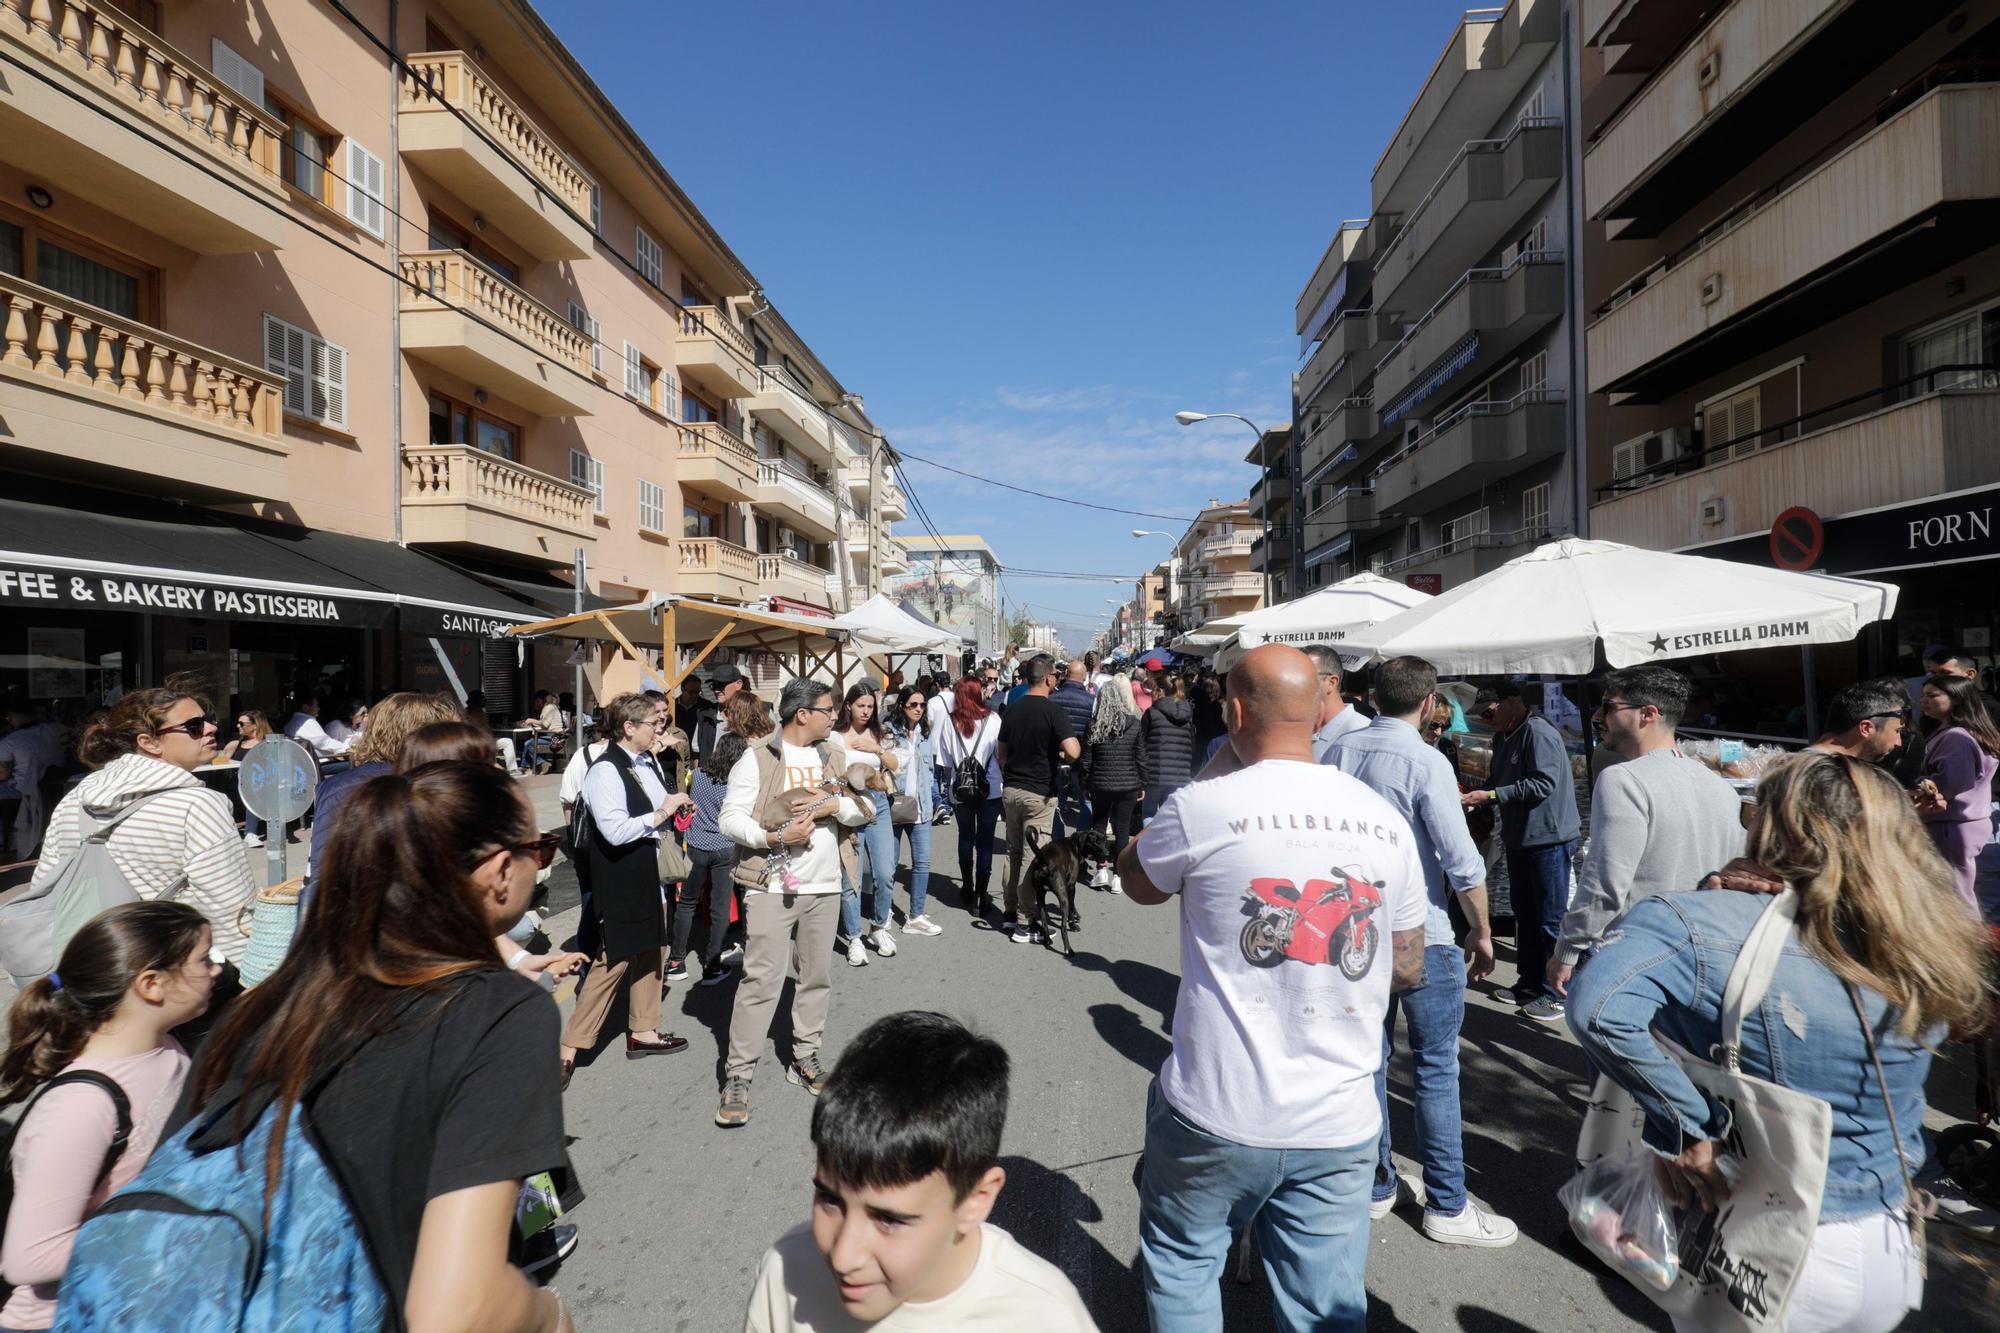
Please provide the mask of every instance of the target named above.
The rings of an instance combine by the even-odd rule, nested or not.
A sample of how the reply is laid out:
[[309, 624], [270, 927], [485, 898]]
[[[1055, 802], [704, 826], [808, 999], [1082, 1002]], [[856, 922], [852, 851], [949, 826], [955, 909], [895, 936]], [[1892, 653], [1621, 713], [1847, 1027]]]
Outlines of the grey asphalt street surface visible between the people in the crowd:
[[[538, 793], [542, 803], [552, 795]], [[952, 829], [936, 833], [936, 861], [956, 867]], [[572, 901], [558, 867], [552, 905]], [[896, 903], [906, 905], [902, 887]], [[1134, 1173], [1146, 1085], [1170, 1047], [1178, 917], [1102, 893], [1086, 893], [1080, 909], [1076, 957], [1064, 959], [982, 929], [954, 875], [932, 877], [932, 917], [944, 935], [898, 935], [894, 959], [836, 967], [824, 1057], [832, 1065], [848, 1037], [900, 1009], [952, 1013], [1000, 1039], [1014, 1057], [1014, 1089], [1008, 1185], [994, 1221], [1068, 1273], [1106, 1333], [1142, 1331]], [[570, 921], [574, 913], [552, 925], [560, 933]], [[1512, 963], [1502, 959], [1506, 981]], [[578, 1063], [564, 1111], [588, 1199], [572, 1215], [582, 1245], [554, 1285], [586, 1333], [742, 1327], [758, 1257], [806, 1219], [812, 1099], [784, 1081], [770, 1051], [750, 1125], [724, 1131], [710, 1121], [732, 991], [672, 987], [666, 1025], [692, 1041], [684, 1055], [626, 1061], [612, 1035], [594, 1061]], [[1484, 991], [1468, 1005], [1462, 1045], [1468, 1185], [1520, 1223], [1520, 1241], [1500, 1251], [1442, 1247], [1418, 1231], [1416, 1211], [1374, 1223], [1368, 1327], [1666, 1329], [1638, 1293], [1566, 1241], [1554, 1195], [1572, 1173], [1586, 1093], [1574, 1041], [1560, 1025], [1500, 1009]], [[1956, 1071], [1940, 1071], [1936, 1083], [1934, 1101], [1968, 1105]], [[1390, 1107], [1396, 1141], [1412, 1143], [1404, 1055], [1392, 1067]], [[1230, 1329], [1272, 1327], [1262, 1273], [1246, 1285], [1224, 1277], [1222, 1287]], [[1906, 1327], [1990, 1327], [1990, 1309], [1940, 1255], [1926, 1309]]]

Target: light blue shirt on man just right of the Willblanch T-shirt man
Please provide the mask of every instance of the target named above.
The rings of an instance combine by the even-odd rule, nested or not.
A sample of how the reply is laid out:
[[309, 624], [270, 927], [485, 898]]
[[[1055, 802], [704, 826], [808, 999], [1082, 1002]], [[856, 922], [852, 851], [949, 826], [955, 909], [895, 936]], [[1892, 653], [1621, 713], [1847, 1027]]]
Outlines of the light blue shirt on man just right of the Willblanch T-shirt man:
[[1424, 745], [1416, 727], [1396, 717], [1378, 717], [1340, 737], [1326, 751], [1324, 763], [1360, 779], [1410, 821], [1416, 861], [1424, 867], [1424, 893], [1430, 897], [1424, 945], [1454, 945], [1452, 919], [1444, 911], [1446, 895], [1484, 885], [1486, 859], [1466, 829], [1452, 763], [1436, 747]]

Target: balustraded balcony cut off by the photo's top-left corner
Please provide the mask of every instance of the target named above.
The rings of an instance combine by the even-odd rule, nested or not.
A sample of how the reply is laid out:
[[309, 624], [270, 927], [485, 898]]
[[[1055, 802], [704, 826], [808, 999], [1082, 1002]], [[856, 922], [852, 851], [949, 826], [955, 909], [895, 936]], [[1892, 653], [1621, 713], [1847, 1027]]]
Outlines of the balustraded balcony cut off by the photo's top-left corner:
[[0, 0], [0, 54], [8, 166], [196, 254], [286, 242], [284, 126], [110, 2]]

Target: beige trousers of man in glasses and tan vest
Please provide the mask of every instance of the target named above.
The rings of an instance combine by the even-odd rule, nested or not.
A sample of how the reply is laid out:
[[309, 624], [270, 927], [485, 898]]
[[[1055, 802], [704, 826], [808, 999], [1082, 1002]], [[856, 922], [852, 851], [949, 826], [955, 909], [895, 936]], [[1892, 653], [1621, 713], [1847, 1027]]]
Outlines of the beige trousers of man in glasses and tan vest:
[[770, 1037], [770, 1011], [784, 991], [786, 965], [794, 957], [792, 933], [798, 933], [798, 985], [792, 991], [792, 1059], [820, 1053], [826, 1031], [826, 1009], [834, 997], [834, 931], [840, 925], [838, 893], [770, 893], [756, 889], [744, 895], [744, 975], [736, 983], [736, 1009], [730, 1013], [730, 1055], [722, 1067], [726, 1079], [750, 1079]]

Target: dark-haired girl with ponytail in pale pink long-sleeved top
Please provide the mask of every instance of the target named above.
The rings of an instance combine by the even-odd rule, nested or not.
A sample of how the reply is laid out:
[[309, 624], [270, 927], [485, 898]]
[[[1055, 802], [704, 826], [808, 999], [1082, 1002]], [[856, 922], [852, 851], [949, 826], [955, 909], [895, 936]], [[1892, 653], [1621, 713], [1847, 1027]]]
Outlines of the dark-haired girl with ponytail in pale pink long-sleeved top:
[[28, 1099], [10, 1153], [0, 1329], [46, 1329], [84, 1217], [138, 1175], [188, 1077], [172, 1029], [208, 1007], [216, 963], [202, 913], [124, 903], [70, 937], [14, 999], [0, 1107]]

